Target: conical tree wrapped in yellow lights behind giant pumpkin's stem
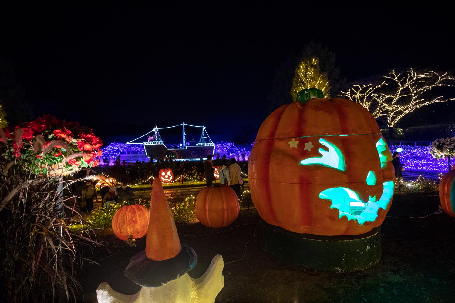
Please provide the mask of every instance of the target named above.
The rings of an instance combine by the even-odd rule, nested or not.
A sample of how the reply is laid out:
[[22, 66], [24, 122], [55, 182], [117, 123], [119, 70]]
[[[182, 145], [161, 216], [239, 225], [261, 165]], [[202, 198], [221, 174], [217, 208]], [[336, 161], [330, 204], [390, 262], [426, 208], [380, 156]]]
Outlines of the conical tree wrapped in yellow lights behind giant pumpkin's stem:
[[322, 90], [324, 96], [329, 98], [330, 85], [326, 73], [321, 73], [317, 58], [300, 61], [292, 80], [291, 96], [295, 100], [302, 89], [316, 88]]

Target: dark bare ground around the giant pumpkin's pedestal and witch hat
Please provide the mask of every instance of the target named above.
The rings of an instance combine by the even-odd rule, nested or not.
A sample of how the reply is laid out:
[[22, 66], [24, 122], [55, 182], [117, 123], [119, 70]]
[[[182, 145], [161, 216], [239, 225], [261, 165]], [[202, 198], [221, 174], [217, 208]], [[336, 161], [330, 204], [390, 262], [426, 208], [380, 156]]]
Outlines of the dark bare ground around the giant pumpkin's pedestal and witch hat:
[[[435, 193], [431, 193], [435, 194]], [[198, 262], [189, 274], [204, 273], [215, 254], [225, 264], [224, 288], [216, 302], [454, 302], [455, 219], [432, 214], [439, 198], [427, 194], [395, 194], [388, 217], [382, 224], [382, 259], [372, 268], [356, 273], [324, 273], [281, 263], [264, 253], [257, 237], [258, 214], [241, 211], [227, 228], [206, 228], [202, 224], [177, 224], [180, 240], [192, 246]], [[399, 219], [393, 217], [426, 216]], [[244, 224], [244, 225], [243, 225]], [[237, 228], [235, 228], [237, 227]], [[208, 234], [223, 231], [222, 233]], [[95, 293], [108, 282], [121, 293], [132, 294], [139, 287], [123, 276], [129, 258], [144, 249], [145, 239], [127, 247], [110, 233], [105, 235], [113, 255], [98, 250], [99, 265], [78, 269], [86, 294]], [[90, 302], [86, 296], [86, 301]]]

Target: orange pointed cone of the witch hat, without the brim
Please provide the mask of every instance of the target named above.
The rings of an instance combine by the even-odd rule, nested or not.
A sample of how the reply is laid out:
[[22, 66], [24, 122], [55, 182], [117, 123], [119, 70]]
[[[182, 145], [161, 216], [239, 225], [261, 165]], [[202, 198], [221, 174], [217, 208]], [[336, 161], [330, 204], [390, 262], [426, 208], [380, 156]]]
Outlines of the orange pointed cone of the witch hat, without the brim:
[[158, 178], [153, 181], [152, 191], [145, 252], [149, 259], [168, 260], [180, 253], [182, 245], [164, 189]]

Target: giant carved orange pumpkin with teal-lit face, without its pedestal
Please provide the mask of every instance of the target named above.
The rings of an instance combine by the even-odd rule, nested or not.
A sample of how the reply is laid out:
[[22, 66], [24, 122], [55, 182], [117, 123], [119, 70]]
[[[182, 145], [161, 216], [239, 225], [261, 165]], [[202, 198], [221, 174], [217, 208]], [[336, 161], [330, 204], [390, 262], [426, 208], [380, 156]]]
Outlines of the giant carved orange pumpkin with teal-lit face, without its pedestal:
[[268, 224], [295, 233], [367, 233], [391, 205], [391, 159], [368, 110], [306, 89], [261, 125], [249, 158], [251, 198]]

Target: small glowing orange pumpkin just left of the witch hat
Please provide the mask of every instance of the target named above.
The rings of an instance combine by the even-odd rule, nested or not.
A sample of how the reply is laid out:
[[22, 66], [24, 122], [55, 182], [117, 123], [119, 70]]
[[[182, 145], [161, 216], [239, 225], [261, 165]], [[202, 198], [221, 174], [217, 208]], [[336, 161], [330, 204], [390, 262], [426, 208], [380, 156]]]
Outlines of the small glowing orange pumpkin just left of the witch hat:
[[147, 233], [148, 210], [141, 204], [122, 206], [112, 218], [112, 231], [117, 238], [127, 240], [130, 234], [138, 239]]

